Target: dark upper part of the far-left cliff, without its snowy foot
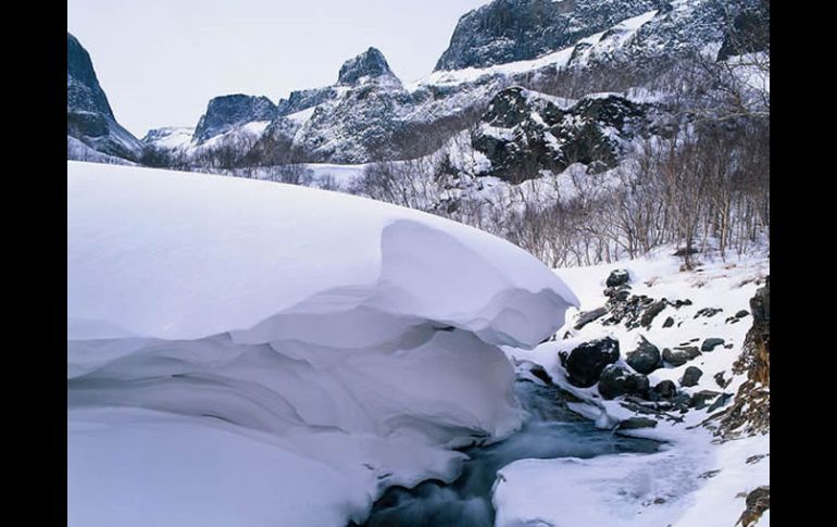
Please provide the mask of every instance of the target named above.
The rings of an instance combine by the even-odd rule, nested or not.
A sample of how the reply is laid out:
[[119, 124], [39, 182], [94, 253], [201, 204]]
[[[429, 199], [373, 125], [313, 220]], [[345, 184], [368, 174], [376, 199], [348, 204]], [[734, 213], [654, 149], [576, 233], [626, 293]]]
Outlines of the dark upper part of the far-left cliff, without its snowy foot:
[[96, 112], [113, 117], [99, 79], [96, 77], [90, 54], [77, 38], [66, 34], [67, 111]]

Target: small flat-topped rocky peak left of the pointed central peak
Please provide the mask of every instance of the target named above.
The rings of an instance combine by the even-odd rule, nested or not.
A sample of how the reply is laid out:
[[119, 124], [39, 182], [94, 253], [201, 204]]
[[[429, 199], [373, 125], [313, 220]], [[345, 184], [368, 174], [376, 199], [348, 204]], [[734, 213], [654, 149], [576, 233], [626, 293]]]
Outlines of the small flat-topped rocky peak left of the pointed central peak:
[[272, 121], [276, 116], [276, 104], [266, 97], [236, 93], [213, 98], [207, 105], [198, 126], [195, 141], [202, 143], [220, 134], [248, 123]]

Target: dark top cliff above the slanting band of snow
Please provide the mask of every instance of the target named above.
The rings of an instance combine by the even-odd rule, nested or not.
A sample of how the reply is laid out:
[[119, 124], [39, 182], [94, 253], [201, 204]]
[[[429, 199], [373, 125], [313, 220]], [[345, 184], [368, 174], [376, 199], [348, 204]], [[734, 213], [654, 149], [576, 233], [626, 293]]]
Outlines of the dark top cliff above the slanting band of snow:
[[653, 0], [495, 0], [463, 15], [436, 70], [504, 64], [558, 51], [655, 9]]

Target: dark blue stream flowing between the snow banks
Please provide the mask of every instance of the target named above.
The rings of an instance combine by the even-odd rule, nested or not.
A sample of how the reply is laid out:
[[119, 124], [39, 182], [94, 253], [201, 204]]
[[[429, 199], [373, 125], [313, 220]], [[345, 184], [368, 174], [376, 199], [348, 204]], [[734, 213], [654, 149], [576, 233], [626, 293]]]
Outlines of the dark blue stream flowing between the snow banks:
[[519, 380], [514, 390], [530, 415], [519, 431], [501, 442], [464, 450], [471, 459], [452, 484], [430, 480], [413, 489], [387, 489], [361, 527], [491, 527], [491, 487], [497, 470], [513, 461], [650, 453], [660, 444], [597, 429], [566, 409], [558, 388]]

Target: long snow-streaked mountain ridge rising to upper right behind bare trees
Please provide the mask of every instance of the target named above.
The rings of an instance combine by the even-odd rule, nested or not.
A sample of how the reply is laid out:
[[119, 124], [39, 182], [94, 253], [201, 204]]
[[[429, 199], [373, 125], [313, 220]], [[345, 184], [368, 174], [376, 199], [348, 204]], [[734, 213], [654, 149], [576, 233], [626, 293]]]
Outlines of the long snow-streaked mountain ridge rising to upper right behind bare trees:
[[[334, 85], [293, 91], [275, 109], [264, 97], [213, 99], [190, 147], [228, 135], [216, 143], [230, 148], [242, 133], [260, 136], [255, 147], [250, 140], [239, 147], [253, 149], [240, 158], [258, 164], [426, 155], [472, 124], [503, 88], [537, 91], [561, 72], [584, 75], [597, 65], [614, 68], [610, 75], [617, 77], [623, 70], [698, 51], [723, 49], [726, 57], [742, 41], [730, 36], [763, 33], [769, 14], [758, 0], [496, 0], [460, 20], [436, 71], [417, 81], [402, 83], [383, 53], [370, 48], [340, 67]], [[637, 83], [632, 87], [641, 87]]]

